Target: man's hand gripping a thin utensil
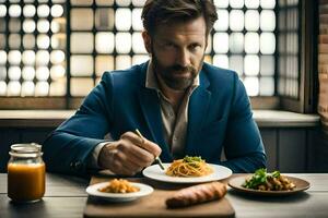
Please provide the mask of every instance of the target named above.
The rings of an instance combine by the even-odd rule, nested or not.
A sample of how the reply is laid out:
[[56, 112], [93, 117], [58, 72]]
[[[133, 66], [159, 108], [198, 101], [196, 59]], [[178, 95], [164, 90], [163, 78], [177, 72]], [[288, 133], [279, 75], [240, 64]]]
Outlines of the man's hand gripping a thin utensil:
[[150, 166], [162, 149], [155, 143], [126, 132], [119, 141], [105, 145], [98, 156], [101, 168], [116, 174], [133, 175]]

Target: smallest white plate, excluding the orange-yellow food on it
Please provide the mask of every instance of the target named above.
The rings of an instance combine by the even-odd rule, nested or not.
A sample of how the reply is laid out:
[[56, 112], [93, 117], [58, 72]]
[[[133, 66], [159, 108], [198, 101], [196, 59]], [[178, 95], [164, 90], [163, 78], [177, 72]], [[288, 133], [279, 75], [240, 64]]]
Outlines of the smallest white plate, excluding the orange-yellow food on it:
[[138, 197], [142, 197], [151, 194], [154, 189], [141, 183], [130, 182], [131, 185], [139, 187], [138, 192], [131, 193], [106, 193], [99, 192], [98, 189], [105, 187], [108, 185], [108, 182], [96, 183], [86, 187], [86, 193], [91, 196], [101, 197], [108, 199], [110, 202], [130, 202], [137, 199]]

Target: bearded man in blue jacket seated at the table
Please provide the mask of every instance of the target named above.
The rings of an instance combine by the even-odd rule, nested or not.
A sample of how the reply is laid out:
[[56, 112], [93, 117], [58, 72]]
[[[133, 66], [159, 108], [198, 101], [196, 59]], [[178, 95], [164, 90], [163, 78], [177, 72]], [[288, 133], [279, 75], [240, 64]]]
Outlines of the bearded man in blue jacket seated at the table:
[[[45, 142], [47, 169], [133, 175], [157, 156], [171, 162], [186, 155], [234, 172], [265, 167], [263, 145], [237, 74], [203, 63], [218, 19], [212, 2], [148, 0], [142, 19], [151, 60], [104, 73], [77, 113]], [[103, 140], [107, 133], [112, 142]], [[226, 161], [220, 159], [222, 150]]]

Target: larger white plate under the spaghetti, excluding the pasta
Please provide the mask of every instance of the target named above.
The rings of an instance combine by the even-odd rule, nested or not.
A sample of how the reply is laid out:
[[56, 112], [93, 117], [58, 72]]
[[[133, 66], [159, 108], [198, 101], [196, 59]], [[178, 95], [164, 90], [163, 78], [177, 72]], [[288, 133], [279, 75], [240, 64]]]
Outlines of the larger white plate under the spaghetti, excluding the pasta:
[[[163, 164], [164, 168], [167, 169], [171, 164]], [[231, 169], [220, 166], [220, 165], [211, 165], [214, 170], [213, 173], [204, 177], [192, 177], [192, 178], [183, 178], [183, 177], [171, 177], [165, 174], [165, 170], [162, 170], [159, 165], [153, 165], [145, 168], [142, 173], [144, 177], [162, 181], [162, 182], [172, 182], [172, 183], [201, 183], [201, 182], [211, 182], [216, 180], [223, 180], [229, 178], [232, 174]]]

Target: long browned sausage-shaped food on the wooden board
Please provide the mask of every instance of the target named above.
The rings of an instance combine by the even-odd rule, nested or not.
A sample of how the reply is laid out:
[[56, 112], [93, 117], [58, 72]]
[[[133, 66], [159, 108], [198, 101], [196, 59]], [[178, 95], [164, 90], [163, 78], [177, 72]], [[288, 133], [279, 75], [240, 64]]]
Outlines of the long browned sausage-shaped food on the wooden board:
[[226, 185], [221, 182], [198, 184], [177, 191], [166, 199], [168, 208], [186, 207], [195, 204], [222, 198], [226, 193]]

